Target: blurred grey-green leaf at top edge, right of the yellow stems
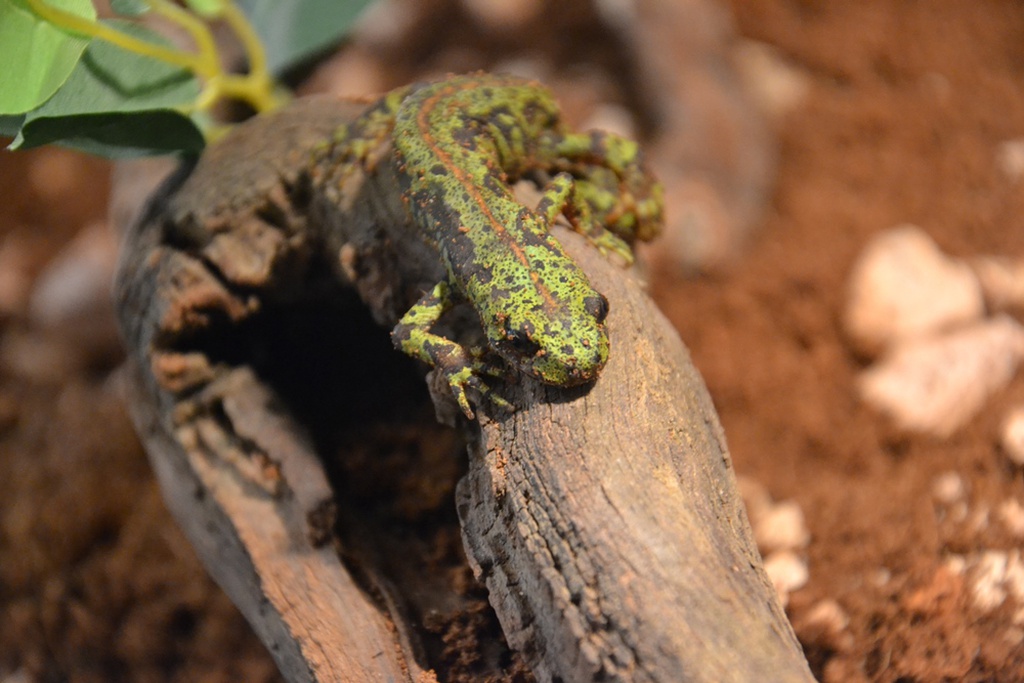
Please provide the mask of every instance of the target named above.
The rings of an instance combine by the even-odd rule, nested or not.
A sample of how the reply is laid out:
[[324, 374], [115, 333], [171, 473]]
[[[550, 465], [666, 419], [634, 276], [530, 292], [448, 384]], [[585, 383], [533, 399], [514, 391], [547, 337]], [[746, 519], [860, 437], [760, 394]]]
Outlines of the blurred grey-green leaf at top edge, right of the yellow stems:
[[273, 74], [339, 42], [373, 0], [240, 0]]

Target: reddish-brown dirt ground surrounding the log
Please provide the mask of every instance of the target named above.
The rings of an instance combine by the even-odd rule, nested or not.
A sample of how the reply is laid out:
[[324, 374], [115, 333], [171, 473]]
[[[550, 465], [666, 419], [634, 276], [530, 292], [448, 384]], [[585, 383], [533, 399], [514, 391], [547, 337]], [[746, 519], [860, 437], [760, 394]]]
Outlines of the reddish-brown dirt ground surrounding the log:
[[[950, 568], [1022, 543], [996, 511], [1024, 501], [998, 445], [1024, 374], [951, 436], [909, 434], [859, 400], [866, 360], [841, 325], [854, 259], [894, 225], [952, 255], [1024, 256], [1021, 180], [996, 162], [1024, 137], [1024, 6], [731, 7], [739, 34], [775, 46], [810, 87], [778, 124], [775, 188], [742, 255], [699, 278], [659, 269], [653, 293], [737, 473], [804, 513], [809, 580], [787, 611], [812, 670], [1024, 680], [1019, 605], [979, 606]], [[119, 399], [110, 311], [46, 324], [33, 303], [54, 255], [103, 219], [108, 171], [56, 151], [0, 155], [0, 681], [276, 680], [162, 505]], [[955, 514], [935, 493], [948, 473], [966, 492]], [[819, 618], [833, 602], [838, 629]], [[440, 680], [456, 680], [445, 666]]]

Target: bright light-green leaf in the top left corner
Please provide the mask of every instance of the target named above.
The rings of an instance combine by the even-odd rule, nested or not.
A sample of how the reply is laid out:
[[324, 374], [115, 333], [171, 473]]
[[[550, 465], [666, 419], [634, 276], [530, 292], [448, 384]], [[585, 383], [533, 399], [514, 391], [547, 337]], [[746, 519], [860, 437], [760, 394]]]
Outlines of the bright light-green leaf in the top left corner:
[[[47, 0], [58, 9], [96, 18], [91, 0]], [[89, 44], [36, 16], [25, 0], [0, 0], [0, 114], [23, 114], [46, 101], [68, 80]], [[17, 65], [17, 68], [13, 68]]]

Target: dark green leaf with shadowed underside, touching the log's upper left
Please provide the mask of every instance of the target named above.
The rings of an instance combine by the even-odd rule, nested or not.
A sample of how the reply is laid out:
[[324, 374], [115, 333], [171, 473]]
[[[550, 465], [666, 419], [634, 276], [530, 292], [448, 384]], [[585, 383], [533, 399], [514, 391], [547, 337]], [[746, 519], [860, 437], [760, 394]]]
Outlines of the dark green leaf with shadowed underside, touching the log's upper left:
[[[109, 24], [166, 44], [137, 25]], [[177, 108], [195, 102], [199, 91], [188, 72], [96, 40], [65, 87], [26, 115], [9, 148], [55, 142], [112, 158], [198, 151], [203, 135]]]

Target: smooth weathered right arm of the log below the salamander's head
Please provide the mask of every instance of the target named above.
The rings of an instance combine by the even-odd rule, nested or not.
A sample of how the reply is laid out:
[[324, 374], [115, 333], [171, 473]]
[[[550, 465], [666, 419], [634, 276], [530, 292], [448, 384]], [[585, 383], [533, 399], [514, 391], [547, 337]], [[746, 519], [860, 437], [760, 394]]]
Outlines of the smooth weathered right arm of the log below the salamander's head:
[[638, 282], [560, 234], [611, 304], [588, 392], [523, 381], [460, 484], [463, 540], [541, 680], [807, 681], [711, 398]]

